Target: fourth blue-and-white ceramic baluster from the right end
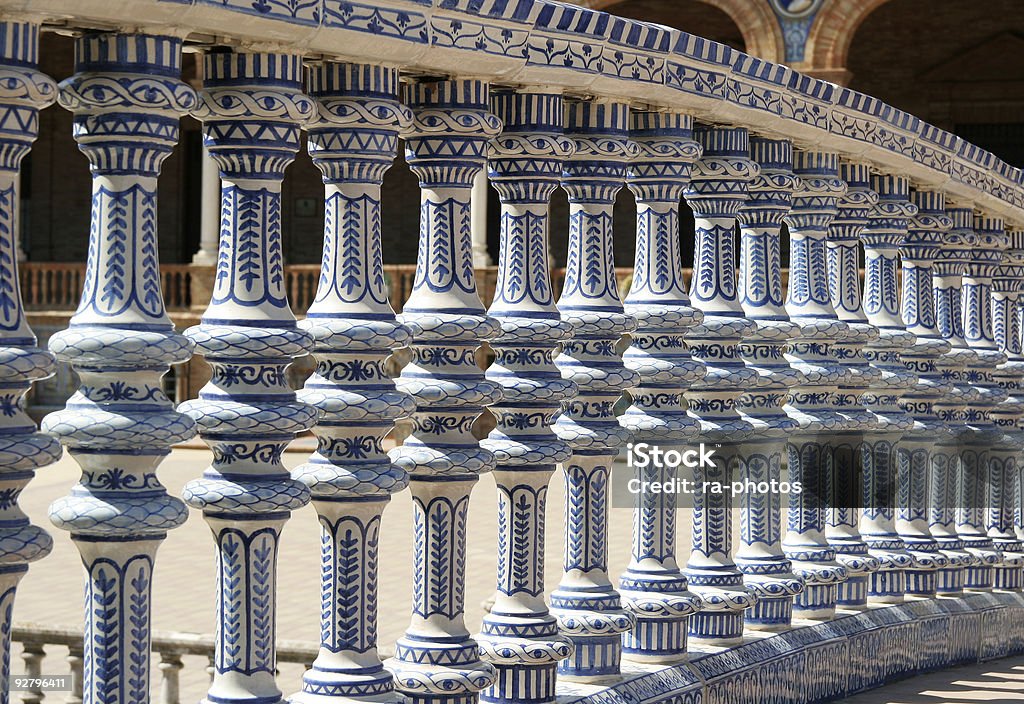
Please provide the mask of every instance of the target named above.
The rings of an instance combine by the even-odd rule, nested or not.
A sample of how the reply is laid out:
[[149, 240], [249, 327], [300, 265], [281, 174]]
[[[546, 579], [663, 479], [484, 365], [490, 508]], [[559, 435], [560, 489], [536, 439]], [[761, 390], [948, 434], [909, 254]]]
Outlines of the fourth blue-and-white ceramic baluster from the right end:
[[950, 385], [936, 361], [950, 350], [935, 320], [932, 294], [932, 264], [942, 245], [942, 233], [952, 221], [945, 214], [941, 192], [914, 190], [910, 203], [918, 212], [908, 222], [907, 235], [900, 246], [903, 296], [903, 324], [915, 340], [900, 352], [900, 358], [918, 378], [913, 389], [903, 395], [901, 405], [913, 419], [913, 428], [903, 435], [896, 450], [896, 532], [903, 540], [913, 566], [906, 571], [906, 593], [934, 597], [936, 571], [949, 567], [949, 560], [929, 530], [929, 475], [931, 453], [946, 435], [945, 423], [933, 404]]

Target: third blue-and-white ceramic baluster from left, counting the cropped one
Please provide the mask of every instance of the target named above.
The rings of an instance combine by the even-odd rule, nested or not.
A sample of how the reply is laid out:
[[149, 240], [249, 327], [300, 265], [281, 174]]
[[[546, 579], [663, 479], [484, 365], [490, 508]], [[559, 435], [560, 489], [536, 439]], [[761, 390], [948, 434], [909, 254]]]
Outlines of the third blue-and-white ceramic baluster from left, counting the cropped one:
[[185, 485], [217, 551], [217, 631], [207, 701], [281, 700], [276, 669], [276, 566], [289, 514], [309, 489], [282, 463], [296, 433], [316, 421], [286, 370], [310, 348], [288, 305], [281, 246], [281, 185], [313, 115], [299, 56], [208, 53], [196, 116], [220, 167], [220, 250], [210, 305], [187, 335], [213, 368], [199, 398], [181, 404], [213, 450]]

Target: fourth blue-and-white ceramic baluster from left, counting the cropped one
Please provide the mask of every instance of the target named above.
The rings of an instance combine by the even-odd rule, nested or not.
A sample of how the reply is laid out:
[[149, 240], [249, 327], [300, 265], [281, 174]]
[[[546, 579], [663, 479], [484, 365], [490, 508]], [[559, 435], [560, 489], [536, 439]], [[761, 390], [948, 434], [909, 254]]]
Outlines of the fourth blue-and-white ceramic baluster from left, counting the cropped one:
[[319, 654], [292, 702], [397, 702], [377, 654], [381, 517], [409, 481], [381, 447], [416, 406], [384, 369], [408, 344], [387, 299], [381, 255], [381, 181], [412, 122], [395, 69], [314, 63], [316, 117], [309, 156], [324, 176], [324, 256], [316, 296], [299, 323], [316, 370], [298, 393], [319, 411], [317, 449], [292, 477], [309, 487], [321, 524]]

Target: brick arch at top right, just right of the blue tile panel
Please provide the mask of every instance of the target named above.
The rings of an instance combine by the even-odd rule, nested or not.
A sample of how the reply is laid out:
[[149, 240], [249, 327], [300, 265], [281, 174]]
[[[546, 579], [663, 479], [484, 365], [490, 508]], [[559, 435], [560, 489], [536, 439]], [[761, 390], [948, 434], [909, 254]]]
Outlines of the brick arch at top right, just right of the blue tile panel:
[[847, 83], [850, 73], [846, 63], [853, 37], [867, 15], [887, 2], [889, 0], [825, 0], [808, 34], [804, 61], [797, 68], [815, 75], [845, 77], [846, 80], [837, 83]]

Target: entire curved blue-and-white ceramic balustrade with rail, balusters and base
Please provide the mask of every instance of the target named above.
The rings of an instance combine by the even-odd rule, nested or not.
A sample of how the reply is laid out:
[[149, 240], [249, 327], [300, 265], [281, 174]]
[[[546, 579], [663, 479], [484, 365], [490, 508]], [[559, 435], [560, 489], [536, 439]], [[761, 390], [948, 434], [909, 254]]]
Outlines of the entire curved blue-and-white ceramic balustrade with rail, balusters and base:
[[[89, 28], [60, 102], [92, 166], [94, 209], [82, 302], [50, 342], [82, 387], [44, 430], [83, 468], [52, 519], [86, 564], [89, 704], [147, 698], [151, 572], [185, 518], [156, 468], [195, 426], [214, 454], [185, 488], [216, 543], [214, 704], [282, 700], [278, 548], [309, 500], [322, 632], [312, 667], [290, 683], [302, 704], [813, 702], [1024, 652], [1021, 170], [870, 96], [550, 0], [70, 5], [0, 0], [12, 17], [0, 23], [4, 678], [14, 585], [49, 545], [16, 498], [58, 453], [20, 410], [50, 357], [25, 325], [11, 238], [20, 160], [54, 98], [35, 68], [37, 29], [57, 19]], [[125, 25], [147, 34], [117, 32]], [[198, 98], [178, 77], [182, 37], [236, 47], [203, 47]], [[221, 232], [212, 300], [182, 336], [164, 309], [155, 213], [187, 113], [220, 171]], [[297, 322], [281, 193], [302, 130], [326, 216], [317, 292]], [[380, 231], [389, 206], [408, 204], [382, 203], [380, 183], [399, 136], [422, 192], [416, 279], [396, 316]], [[487, 310], [471, 226], [484, 168], [502, 201]], [[559, 186], [569, 219], [549, 222]], [[614, 231], [623, 187], [635, 231]], [[692, 263], [680, 260], [681, 197]], [[637, 241], [625, 301], [614, 236]], [[557, 301], [549, 244], [569, 252]], [[388, 379], [385, 360], [404, 346], [413, 362]], [[175, 411], [160, 379], [193, 347], [213, 379]], [[296, 395], [286, 369], [307, 353], [316, 371]], [[481, 440], [485, 408], [497, 427]], [[387, 455], [383, 438], [404, 417], [413, 434]], [[289, 475], [282, 452], [310, 428], [317, 451]], [[668, 494], [634, 498], [616, 588], [607, 514], [630, 440], [703, 442], [715, 458], [692, 477], [623, 468], [641, 484], [700, 488], [692, 513]], [[549, 592], [546, 495], [559, 466], [564, 574]], [[498, 591], [474, 639], [467, 512], [492, 471]], [[803, 491], [708, 488], [786, 478]], [[407, 484], [413, 614], [382, 663], [378, 537]]]

